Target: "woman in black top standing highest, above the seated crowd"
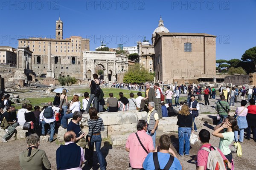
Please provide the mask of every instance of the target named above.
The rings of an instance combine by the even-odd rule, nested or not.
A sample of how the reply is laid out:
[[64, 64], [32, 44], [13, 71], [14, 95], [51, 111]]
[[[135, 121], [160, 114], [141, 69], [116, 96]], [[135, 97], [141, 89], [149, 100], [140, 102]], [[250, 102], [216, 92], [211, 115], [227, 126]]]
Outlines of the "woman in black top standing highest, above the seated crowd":
[[98, 108], [98, 99], [99, 99], [99, 95], [100, 95], [99, 85], [100, 84], [99, 84], [98, 74], [93, 74], [93, 80], [91, 80], [90, 84], [89, 84], [90, 99], [87, 104], [87, 108], [85, 109], [86, 113], [88, 113], [91, 103], [93, 102], [93, 99], [94, 99], [94, 103], [95, 103], [94, 107]]

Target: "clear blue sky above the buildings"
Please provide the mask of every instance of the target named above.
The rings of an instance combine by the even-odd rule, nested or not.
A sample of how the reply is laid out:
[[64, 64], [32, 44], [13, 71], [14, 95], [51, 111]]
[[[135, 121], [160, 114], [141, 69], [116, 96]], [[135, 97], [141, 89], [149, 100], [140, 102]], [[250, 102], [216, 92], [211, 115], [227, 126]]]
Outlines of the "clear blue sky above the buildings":
[[55, 37], [58, 17], [64, 38], [90, 38], [110, 48], [135, 46], [158, 26], [160, 15], [170, 32], [207, 33], [216, 37], [216, 59], [241, 59], [256, 46], [255, 0], [52, 0], [0, 1], [0, 45], [17, 48], [18, 38]]

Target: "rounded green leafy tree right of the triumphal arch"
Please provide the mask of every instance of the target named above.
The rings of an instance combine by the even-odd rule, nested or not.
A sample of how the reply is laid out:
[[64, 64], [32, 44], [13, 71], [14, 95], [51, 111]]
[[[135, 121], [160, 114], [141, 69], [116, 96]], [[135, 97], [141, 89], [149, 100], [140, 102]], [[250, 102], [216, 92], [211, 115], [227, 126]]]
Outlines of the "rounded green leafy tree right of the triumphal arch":
[[150, 74], [142, 65], [135, 63], [133, 66], [129, 66], [128, 71], [124, 75], [124, 83], [140, 83], [153, 81], [154, 76]]

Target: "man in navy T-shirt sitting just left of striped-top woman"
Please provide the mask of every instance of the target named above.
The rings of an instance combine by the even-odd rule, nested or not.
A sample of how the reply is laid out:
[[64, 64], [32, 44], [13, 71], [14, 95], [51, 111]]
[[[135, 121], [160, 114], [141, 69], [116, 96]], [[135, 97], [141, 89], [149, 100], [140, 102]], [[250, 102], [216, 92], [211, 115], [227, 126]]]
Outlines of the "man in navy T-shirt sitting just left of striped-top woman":
[[82, 117], [83, 116], [81, 111], [75, 111], [73, 114], [73, 119], [71, 119], [71, 121], [67, 125], [67, 131], [72, 130], [73, 132], [76, 133], [76, 140], [74, 142], [84, 149], [86, 147], [86, 142], [84, 139], [85, 132], [81, 131], [79, 125], [79, 122], [81, 122]]

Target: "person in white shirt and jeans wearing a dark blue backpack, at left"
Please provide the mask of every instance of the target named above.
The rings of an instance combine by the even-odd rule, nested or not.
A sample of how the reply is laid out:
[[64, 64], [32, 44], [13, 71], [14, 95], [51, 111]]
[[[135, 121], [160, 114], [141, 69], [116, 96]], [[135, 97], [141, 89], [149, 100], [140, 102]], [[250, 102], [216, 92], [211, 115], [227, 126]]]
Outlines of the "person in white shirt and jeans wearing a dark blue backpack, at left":
[[52, 102], [48, 102], [48, 108], [45, 108], [39, 115], [42, 122], [42, 135], [45, 135], [45, 125], [48, 124], [51, 127], [51, 135], [49, 142], [53, 142], [53, 135], [55, 132], [56, 114], [59, 113], [60, 108], [52, 106]]

